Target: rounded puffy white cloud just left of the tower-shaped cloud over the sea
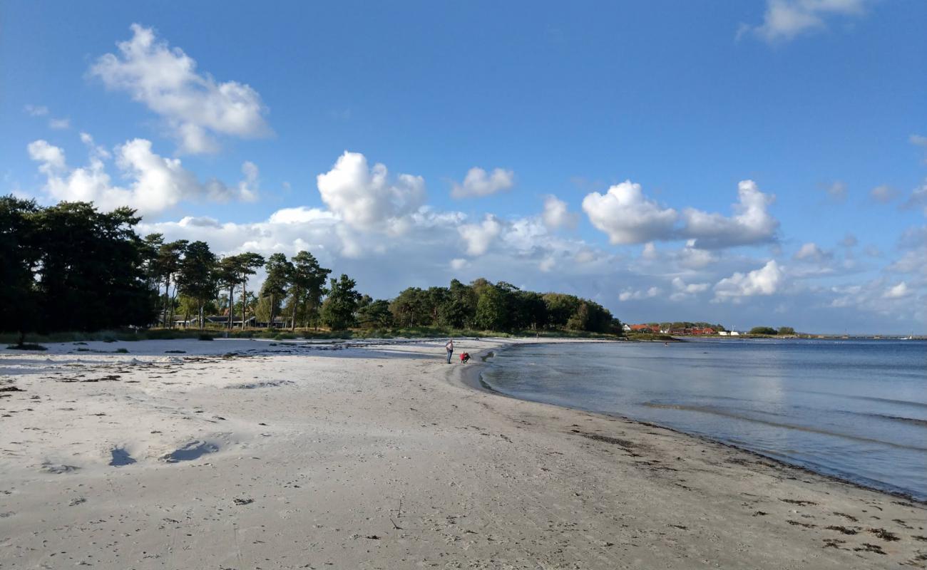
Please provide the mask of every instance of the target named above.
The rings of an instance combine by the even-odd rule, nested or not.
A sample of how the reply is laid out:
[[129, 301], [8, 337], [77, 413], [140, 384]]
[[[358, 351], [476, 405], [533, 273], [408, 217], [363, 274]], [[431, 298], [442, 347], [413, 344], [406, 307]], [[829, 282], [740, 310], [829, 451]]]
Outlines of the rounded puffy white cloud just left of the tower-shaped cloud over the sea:
[[582, 209], [592, 225], [616, 245], [668, 239], [679, 218], [675, 209], [662, 208], [643, 195], [641, 184], [629, 180], [612, 186], [604, 195], [598, 192], [586, 195]]

